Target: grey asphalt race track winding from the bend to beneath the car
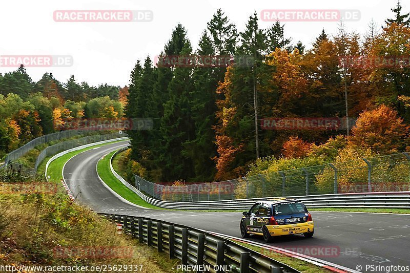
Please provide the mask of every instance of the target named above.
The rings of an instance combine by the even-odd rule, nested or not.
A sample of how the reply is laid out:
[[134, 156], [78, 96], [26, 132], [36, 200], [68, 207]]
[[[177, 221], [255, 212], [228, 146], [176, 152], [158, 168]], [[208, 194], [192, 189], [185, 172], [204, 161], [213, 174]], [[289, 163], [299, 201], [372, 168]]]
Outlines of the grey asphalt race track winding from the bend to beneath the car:
[[[96, 164], [101, 157], [126, 143], [101, 146], [67, 161], [64, 178], [79, 203], [99, 213], [144, 216], [240, 237], [241, 213], [160, 211], [135, 207], [118, 199], [98, 179]], [[381, 266], [410, 267], [409, 215], [313, 212], [312, 217], [315, 222], [313, 238], [290, 235], [279, 237], [272, 245], [354, 270], [361, 265], [362, 272], [386, 272]], [[251, 240], [264, 243], [259, 237], [251, 236]], [[315, 253], [318, 249], [327, 249], [330, 254]], [[373, 265], [374, 270], [366, 270], [366, 265]]]

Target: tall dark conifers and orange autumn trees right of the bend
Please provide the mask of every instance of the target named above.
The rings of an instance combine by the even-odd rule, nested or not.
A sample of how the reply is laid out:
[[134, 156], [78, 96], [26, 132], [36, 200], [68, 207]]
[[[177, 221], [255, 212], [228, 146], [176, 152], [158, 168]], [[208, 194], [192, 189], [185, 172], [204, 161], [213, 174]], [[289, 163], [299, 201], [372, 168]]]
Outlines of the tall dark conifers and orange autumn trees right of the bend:
[[[244, 175], [257, 158], [281, 156], [283, 144], [295, 136], [302, 143], [320, 144], [345, 134], [262, 130], [263, 118], [345, 118], [347, 100], [351, 118], [385, 105], [410, 122], [408, 62], [366, 62], [410, 55], [409, 14], [403, 14], [399, 3], [392, 11], [396, 17], [379, 28], [371, 22], [364, 35], [347, 32], [342, 23], [335, 35], [323, 30], [309, 49], [293, 44], [278, 22], [261, 29], [256, 14], [238, 32], [218, 10], [196, 50], [186, 29], [177, 25], [160, 58], [251, 56], [253, 64], [164, 67], [154, 66], [150, 57], [144, 64], [138, 61], [126, 115], [153, 118], [154, 130], [131, 133], [131, 158], [153, 181], [223, 180]], [[357, 58], [359, 65], [352, 64]], [[401, 150], [392, 151], [406, 145], [399, 146]]]

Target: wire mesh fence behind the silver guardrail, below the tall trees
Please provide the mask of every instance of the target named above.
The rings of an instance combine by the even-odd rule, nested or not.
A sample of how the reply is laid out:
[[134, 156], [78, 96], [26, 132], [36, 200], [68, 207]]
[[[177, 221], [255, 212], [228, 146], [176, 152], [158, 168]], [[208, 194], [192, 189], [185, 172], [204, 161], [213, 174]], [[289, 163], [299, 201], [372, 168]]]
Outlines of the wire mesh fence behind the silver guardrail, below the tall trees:
[[212, 201], [273, 196], [410, 191], [407, 153], [261, 173], [221, 182], [157, 184], [137, 175], [135, 186], [163, 201]]

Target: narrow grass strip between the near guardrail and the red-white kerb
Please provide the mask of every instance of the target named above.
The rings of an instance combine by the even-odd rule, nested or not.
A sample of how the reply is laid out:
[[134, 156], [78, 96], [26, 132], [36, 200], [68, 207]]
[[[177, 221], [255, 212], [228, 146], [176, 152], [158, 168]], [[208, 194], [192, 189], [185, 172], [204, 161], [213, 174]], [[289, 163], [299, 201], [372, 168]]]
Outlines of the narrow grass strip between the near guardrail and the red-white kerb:
[[250, 245], [250, 244], [239, 242], [239, 241], [236, 241], [236, 240], [232, 240], [232, 241], [237, 243], [237, 244], [248, 247], [252, 250], [255, 250], [258, 253], [261, 253], [265, 256], [268, 256], [268, 257], [270, 257], [270, 258], [272, 258], [276, 261], [279, 261], [281, 263], [289, 265], [289, 266], [291, 266], [291, 267], [295, 268], [296, 270], [299, 270], [303, 273], [330, 273], [330, 272], [332, 272], [329, 269], [314, 265], [312, 263], [309, 263], [309, 262], [306, 262], [306, 261], [303, 261], [303, 260], [292, 258], [292, 257], [286, 256], [286, 255], [280, 254], [280, 253], [276, 253], [272, 250], [265, 249], [263, 247]]

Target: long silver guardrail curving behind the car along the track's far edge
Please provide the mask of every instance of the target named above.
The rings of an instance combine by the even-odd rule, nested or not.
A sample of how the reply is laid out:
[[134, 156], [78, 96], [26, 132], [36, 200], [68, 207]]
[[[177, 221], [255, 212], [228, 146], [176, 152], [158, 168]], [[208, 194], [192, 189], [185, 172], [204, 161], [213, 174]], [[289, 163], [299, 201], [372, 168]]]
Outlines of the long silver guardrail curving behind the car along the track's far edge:
[[[121, 151], [127, 148], [122, 148], [115, 152], [112, 158]], [[274, 197], [249, 198], [249, 199], [231, 199], [221, 201], [201, 201], [201, 202], [172, 202], [162, 201], [151, 198], [143, 194], [140, 189], [128, 183], [124, 178], [118, 175], [112, 164], [110, 163], [111, 172], [127, 186], [131, 191], [137, 194], [150, 204], [172, 209], [249, 209], [255, 202], [266, 200]], [[281, 197], [276, 197], [281, 198]], [[410, 208], [410, 191], [409, 192], [382, 192], [382, 193], [350, 193], [350, 194], [325, 194], [325, 195], [307, 195], [307, 196], [292, 196], [286, 198], [296, 198], [308, 207], [368, 207], [368, 208]]]

